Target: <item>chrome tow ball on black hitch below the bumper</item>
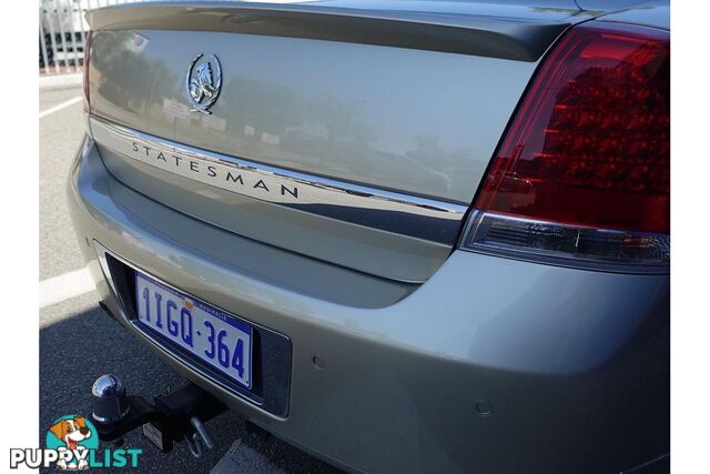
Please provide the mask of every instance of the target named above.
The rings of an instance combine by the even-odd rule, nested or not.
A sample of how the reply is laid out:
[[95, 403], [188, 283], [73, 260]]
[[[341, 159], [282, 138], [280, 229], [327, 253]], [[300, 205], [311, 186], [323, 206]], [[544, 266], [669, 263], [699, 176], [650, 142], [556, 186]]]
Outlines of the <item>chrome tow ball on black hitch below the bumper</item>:
[[226, 411], [222, 402], [193, 383], [158, 395], [151, 404], [142, 396], [126, 395], [121, 379], [106, 374], [97, 379], [91, 393], [91, 417], [101, 441], [120, 444], [126, 433], [141, 427], [163, 453], [186, 440], [195, 457], [214, 447], [204, 423]]

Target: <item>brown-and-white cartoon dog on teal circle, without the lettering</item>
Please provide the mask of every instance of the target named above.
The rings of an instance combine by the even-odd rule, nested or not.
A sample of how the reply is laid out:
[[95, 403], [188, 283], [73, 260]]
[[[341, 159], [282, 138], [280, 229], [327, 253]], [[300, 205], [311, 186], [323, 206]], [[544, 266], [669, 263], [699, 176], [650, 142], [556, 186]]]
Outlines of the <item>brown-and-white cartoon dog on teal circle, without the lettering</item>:
[[89, 451], [99, 447], [97, 430], [90, 421], [79, 415], [58, 418], [47, 433], [47, 447], [67, 452], [57, 462], [62, 471], [83, 471], [89, 468]]

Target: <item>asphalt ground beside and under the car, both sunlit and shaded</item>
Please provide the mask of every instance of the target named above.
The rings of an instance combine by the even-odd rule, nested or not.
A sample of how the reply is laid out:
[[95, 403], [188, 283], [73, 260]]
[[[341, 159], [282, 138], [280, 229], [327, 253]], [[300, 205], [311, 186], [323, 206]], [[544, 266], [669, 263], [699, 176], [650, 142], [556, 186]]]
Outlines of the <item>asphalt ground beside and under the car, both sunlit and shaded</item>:
[[[67, 179], [83, 137], [81, 88], [40, 90], [40, 280], [61, 280], [83, 269], [67, 204]], [[61, 108], [60, 108], [61, 107]], [[53, 280], [52, 280], [53, 279]], [[59, 416], [91, 413], [91, 384], [101, 374], [119, 374], [133, 394], [146, 399], [184, 382], [158, 356], [128, 334], [88, 291], [40, 309], [40, 443]], [[230, 411], [206, 424], [215, 448], [196, 460], [183, 443], [162, 454], [140, 433], [123, 447], [141, 448], [138, 470], [130, 472], [335, 473], [334, 467], [275, 438], [253, 437], [245, 420]], [[91, 470], [100, 472], [100, 470]], [[115, 472], [115, 470], [113, 471]]]

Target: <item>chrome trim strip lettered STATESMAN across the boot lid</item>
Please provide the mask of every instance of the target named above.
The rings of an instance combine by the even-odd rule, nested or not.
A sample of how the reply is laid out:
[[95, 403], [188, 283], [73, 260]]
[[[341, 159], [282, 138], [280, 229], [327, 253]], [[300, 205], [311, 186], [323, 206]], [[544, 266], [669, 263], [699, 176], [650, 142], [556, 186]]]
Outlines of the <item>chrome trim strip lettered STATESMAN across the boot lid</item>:
[[103, 147], [141, 163], [270, 203], [454, 245], [467, 206], [315, 177], [160, 139], [92, 115]]

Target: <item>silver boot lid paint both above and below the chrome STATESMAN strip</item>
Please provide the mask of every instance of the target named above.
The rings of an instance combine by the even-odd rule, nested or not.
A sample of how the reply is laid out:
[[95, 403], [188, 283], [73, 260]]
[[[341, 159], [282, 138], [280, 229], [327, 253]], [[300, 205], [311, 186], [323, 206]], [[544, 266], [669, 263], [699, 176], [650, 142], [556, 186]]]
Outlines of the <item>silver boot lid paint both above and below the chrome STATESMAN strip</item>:
[[[190, 112], [184, 97], [186, 67], [206, 50], [224, 74], [211, 115]], [[300, 38], [111, 30], [94, 32], [90, 94], [97, 115], [168, 140], [468, 205], [536, 67]], [[110, 150], [103, 159], [122, 182], [190, 215], [378, 276], [424, 282], [455, 243], [288, 211]]]

